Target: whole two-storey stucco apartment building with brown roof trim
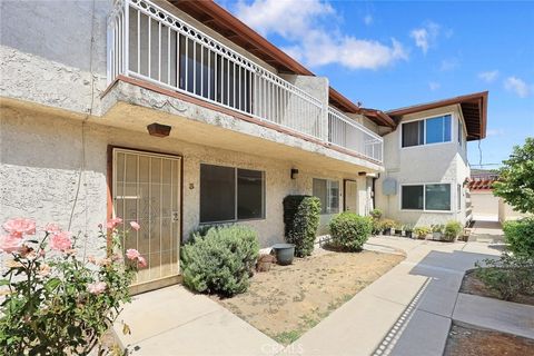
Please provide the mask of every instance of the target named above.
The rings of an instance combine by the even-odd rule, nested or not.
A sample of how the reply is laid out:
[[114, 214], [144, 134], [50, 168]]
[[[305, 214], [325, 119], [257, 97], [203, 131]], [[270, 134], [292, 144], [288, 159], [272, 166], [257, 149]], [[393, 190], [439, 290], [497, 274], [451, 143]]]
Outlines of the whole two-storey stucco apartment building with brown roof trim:
[[[57, 221], [90, 253], [106, 218], [138, 220], [126, 245], [149, 261], [142, 288], [176, 280], [179, 244], [201, 224], [239, 221], [263, 246], [280, 241], [289, 194], [320, 198], [322, 231], [344, 209], [374, 206], [413, 222], [465, 220], [456, 185], [468, 176], [466, 140], [484, 138], [487, 93], [359, 108], [211, 1], [0, 7], [0, 219]], [[403, 130], [419, 144], [409, 120], [443, 115], [448, 144], [402, 148]], [[383, 195], [386, 178], [395, 197]], [[448, 212], [400, 209], [404, 185], [436, 182], [448, 190], [424, 187], [435, 197], [426, 210]]]

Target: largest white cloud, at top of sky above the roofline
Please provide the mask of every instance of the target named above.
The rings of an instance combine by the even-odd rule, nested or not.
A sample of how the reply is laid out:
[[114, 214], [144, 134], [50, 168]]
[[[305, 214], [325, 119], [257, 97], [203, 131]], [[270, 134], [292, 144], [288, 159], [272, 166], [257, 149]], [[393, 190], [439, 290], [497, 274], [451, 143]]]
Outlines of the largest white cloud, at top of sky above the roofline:
[[299, 0], [250, 3], [241, 0], [236, 14], [264, 36], [281, 36], [289, 42], [284, 50], [310, 67], [340, 65], [349, 69], [378, 69], [408, 58], [403, 44], [394, 38], [383, 43], [343, 33], [336, 27], [339, 16], [320, 0], [306, 1], [305, 6]]

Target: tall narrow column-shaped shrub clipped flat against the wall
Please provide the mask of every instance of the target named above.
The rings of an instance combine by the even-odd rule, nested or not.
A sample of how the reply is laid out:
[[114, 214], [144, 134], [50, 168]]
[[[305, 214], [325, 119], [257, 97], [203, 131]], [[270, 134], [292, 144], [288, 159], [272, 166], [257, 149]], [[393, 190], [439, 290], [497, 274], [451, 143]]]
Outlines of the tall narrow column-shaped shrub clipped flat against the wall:
[[319, 227], [320, 200], [312, 196], [284, 198], [286, 241], [295, 244], [295, 256], [312, 255]]

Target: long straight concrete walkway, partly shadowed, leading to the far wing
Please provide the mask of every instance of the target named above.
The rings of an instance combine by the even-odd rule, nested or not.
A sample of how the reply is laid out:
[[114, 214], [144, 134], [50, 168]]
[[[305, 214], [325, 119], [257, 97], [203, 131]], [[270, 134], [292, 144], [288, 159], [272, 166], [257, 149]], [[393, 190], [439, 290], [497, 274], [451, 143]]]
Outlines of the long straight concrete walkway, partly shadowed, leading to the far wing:
[[304, 355], [442, 355], [466, 269], [500, 251], [483, 243], [375, 237], [406, 259], [293, 346]]

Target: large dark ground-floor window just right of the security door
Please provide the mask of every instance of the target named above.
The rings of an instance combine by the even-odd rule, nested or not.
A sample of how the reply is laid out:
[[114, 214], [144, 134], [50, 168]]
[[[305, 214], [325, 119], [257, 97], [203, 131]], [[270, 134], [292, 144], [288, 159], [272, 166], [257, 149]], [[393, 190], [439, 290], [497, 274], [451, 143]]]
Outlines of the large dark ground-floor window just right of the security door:
[[264, 218], [264, 191], [263, 171], [200, 165], [200, 222]]

